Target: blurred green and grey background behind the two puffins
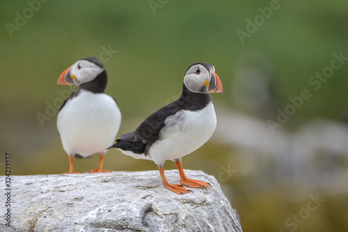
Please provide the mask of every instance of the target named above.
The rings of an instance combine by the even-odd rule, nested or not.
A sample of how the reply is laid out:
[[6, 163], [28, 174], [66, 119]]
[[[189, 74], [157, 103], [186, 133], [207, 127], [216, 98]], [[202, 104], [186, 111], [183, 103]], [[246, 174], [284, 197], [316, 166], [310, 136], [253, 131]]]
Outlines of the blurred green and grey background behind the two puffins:
[[[68, 171], [54, 105], [69, 87], [56, 79], [78, 59], [104, 58], [106, 93], [122, 112], [118, 136], [176, 100], [184, 71], [204, 61], [223, 83], [224, 93], [212, 94], [218, 127], [183, 158], [184, 169], [219, 180], [244, 231], [348, 231], [348, 62], [318, 90], [308, 83], [333, 53], [348, 56], [348, 1], [279, 1], [268, 18], [259, 8], [274, 0], [28, 2], [0, 3], [0, 161], [11, 153], [13, 175]], [[237, 30], [247, 32], [255, 17], [257, 29], [249, 25], [242, 41]], [[290, 110], [289, 98], [303, 89], [310, 99], [272, 133], [269, 119]], [[76, 160], [75, 168], [88, 171], [97, 160]], [[157, 166], [114, 149], [104, 168]], [[325, 201], [306, 210], [317, 194]]]

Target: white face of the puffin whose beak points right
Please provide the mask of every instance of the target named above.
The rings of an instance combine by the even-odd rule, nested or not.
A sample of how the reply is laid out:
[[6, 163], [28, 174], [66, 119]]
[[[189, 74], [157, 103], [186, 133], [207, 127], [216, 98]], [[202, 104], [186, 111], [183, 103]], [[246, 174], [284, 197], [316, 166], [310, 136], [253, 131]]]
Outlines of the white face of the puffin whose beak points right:
[[[213, 67], [215, 71], [215, 68]], [[193, 93], [209, 93], [210, 72], [203, 65], [193, 65], [184, 76], [184, 84]]]

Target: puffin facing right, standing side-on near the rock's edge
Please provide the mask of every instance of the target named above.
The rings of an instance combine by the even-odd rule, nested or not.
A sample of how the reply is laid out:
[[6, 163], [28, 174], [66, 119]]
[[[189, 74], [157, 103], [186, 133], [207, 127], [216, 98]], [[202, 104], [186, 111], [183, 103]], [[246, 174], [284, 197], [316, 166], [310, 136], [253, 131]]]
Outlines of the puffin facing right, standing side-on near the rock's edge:
[[[136, 159], [154, 161], [161, 180], [176, 194], [192, 192], [186, 187], [207, 188], [209, 183], [187, 178], [182, 157], [203, 146], [216, 127], [216, 114], [209, 93], [222, 93], [223, 86], [213, 65], [193, 63], [184, 74], [182, 95], [162, 107], [131, 132], [122, 134], [110, 148], [117, 148]], [[173, 160], [179, 170], [180, 185], [169, 184], [164, 162]]]

